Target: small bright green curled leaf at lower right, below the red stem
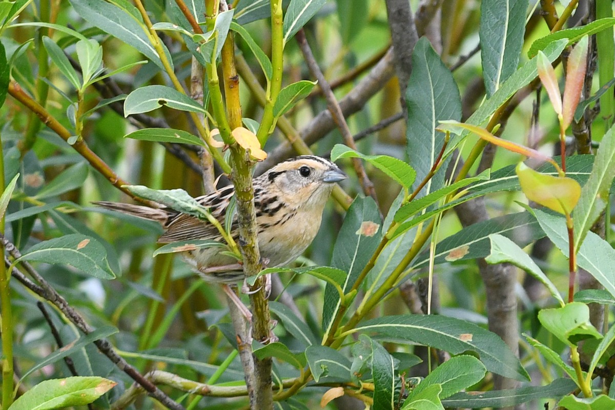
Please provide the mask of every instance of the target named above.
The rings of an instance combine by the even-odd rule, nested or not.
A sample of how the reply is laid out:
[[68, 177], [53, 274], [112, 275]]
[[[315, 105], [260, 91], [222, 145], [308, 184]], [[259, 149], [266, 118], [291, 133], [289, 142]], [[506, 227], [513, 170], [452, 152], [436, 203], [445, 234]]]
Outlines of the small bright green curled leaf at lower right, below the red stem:
[[570, 347], [591, 337], [602, 337], [589, 321], [589, 307], [584, 303], [572, 302], [555, 309], [541, 309], [538, 320], [545, 329]]

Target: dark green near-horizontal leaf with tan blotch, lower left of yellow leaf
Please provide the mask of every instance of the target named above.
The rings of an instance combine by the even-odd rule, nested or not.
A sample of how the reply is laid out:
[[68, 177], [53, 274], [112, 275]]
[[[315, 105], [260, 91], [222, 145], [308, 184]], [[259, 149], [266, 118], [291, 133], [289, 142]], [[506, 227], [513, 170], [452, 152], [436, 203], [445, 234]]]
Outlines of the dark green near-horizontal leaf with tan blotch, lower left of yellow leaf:
[[[525, 247], [544, 237], [538, 221], [529, 212], [511, 213], [472, 224], [450, 237], [443, 239], [435, 248], [434, 263], [464, 261], [486, 258], [491, 252], [489, 235], [499, 234]], [[427, 266], [429, 251], [419, 254], [413, 269]]]

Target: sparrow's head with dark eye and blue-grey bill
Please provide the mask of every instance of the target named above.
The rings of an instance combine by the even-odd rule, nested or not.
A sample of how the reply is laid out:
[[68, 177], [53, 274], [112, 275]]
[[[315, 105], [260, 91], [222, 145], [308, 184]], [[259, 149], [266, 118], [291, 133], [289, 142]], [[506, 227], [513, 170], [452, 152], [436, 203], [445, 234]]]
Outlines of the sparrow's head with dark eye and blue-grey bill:
[[317, 156], [285, 160], [259, 177], [293, 208], [323, 206], [334, 184], [346, 178], [337, 165]]

